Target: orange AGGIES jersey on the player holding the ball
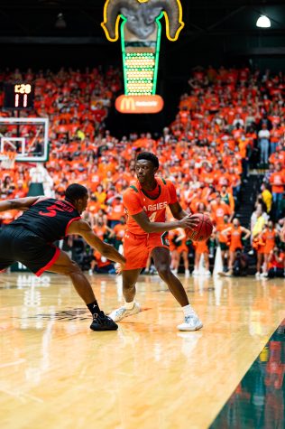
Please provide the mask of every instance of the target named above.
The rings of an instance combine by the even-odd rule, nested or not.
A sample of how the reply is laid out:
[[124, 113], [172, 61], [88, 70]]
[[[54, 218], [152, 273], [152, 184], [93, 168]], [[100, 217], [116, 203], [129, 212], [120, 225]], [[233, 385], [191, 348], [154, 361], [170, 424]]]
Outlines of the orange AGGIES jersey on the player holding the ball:
[[139, 181], [124, 192], [124, 208], [128, 215], [127, 230], [133, 234], [146, 234], [133, 219], [133, 215], [144, 211], [151, 222], [165, 222], [167, 206], [177, 202], [176, 189], [172, 182], [159, 177], [156, 182], [157, 186], [152, 192], [143, 191]]

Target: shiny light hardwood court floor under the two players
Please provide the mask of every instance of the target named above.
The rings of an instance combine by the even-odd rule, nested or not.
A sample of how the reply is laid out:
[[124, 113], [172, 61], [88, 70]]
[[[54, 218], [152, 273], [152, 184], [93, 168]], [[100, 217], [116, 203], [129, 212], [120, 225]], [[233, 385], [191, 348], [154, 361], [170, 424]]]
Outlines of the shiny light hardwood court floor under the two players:
[[[143, 312], [93, 332], [69, 280], [0, 275], [0, 422], [5, 429], [204, 429], [285, 317], [285, 282], [184, 279], [204, 328], [179, 332], [178, 305], [141, 276]], [[106, 312], [121, 279], [94, 275]]]

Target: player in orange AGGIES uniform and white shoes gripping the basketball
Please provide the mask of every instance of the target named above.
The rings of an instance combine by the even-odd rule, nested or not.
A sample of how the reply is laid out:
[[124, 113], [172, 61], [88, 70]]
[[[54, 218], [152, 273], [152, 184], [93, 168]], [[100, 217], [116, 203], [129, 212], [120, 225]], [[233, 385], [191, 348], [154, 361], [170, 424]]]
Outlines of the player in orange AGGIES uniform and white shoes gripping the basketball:
[[[123, 202], [128, 214], [124, 236], [124, 256], [127, 260], [123, 270], [124, 305], [109, 316], [119, 322], [126, 316], [140, 312], [140, 305], [134, 302], [135, 284], [151, 254], [158, 274], [184, 312], [184, 322], [179, 324], [179, 331], [196, 331], [203, 324], [189, 304], [179, 279], [170, 270], [167, 231], [195, 228], [198, 218], [190, 217], [182, 210], [173, 183], [155, 176], [158, 169], [157, 156], [150, 152], [139, 154], [135, 163], [137, 182], [124, 192]], [[165, 221], [167, 206], [170, 207], [172, 216], [178, 220]]]

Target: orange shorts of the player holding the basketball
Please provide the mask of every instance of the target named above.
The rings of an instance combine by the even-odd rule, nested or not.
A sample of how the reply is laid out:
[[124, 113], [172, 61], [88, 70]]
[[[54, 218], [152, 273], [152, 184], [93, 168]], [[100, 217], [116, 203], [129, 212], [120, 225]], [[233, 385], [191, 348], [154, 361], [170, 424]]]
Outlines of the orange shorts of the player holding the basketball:
[[155, 247], [170, 248], [168, 233], [137, 235], [130, 231], [124, 234], [124, 257], [126, 264], [124, 270], [135, 270], [146, 266], [149, 255]]

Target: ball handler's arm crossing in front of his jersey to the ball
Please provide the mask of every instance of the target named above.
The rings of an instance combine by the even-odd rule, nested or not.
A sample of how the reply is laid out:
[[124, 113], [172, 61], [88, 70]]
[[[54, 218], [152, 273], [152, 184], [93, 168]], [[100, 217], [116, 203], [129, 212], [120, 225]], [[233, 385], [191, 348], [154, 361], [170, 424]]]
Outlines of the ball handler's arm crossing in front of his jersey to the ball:
[[174, 222], [151, 222], [145, 211], [141, 211], [132, 216], [136, 223], [143, 231], [150, 234], [151, 232], [166, 232], [176, 228], [195, 228], [198, 225], [198, 218], [194, 216], [186, 216], [183, 219], [175, 220]]

